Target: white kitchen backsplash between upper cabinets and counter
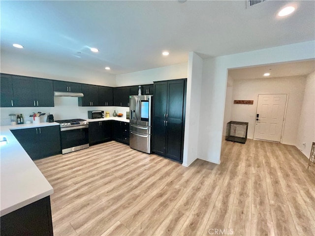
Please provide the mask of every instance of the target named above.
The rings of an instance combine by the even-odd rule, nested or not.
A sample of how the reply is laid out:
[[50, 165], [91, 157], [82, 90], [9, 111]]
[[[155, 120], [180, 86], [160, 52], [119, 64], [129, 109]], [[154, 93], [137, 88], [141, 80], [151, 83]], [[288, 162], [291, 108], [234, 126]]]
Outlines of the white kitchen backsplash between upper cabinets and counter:
[[45, 116], [40, 117], [40, 122], [46, 122], [47, 115], [53, 114], [54, 119], [73, 119], [73, 118], [88, 118], [88, 111], [101, 110], [109, 112], [110, 117], [113, 116], [114, 110], [116, 113], [123, 113], [126, 118], [128, 107], [79, 107], [77, 97], [54, 97], [55, 107], [2, 107], [0, 108], [0, 125], [10, 125], [9, 114], [23, 114], [24, 123], [26, 121], [32, 122], [33, 112], [46, 113]]

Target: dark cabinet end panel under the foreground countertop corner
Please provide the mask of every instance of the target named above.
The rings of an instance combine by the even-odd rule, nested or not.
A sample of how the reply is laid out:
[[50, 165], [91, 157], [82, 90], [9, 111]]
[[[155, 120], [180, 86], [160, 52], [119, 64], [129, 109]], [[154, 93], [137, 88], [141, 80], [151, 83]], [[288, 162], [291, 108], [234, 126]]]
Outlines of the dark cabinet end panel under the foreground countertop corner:
[[0, 218], [1, 236], [53, 236], [50, 197], [45, 197]]

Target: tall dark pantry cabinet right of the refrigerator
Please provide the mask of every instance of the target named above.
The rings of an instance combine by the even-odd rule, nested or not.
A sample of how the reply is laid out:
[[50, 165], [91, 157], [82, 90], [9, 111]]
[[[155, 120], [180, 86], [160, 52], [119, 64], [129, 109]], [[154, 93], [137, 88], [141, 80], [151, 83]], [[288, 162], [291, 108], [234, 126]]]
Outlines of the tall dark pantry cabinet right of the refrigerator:
[[154, 82], [153, 151], [183, 162], [187, 79]]

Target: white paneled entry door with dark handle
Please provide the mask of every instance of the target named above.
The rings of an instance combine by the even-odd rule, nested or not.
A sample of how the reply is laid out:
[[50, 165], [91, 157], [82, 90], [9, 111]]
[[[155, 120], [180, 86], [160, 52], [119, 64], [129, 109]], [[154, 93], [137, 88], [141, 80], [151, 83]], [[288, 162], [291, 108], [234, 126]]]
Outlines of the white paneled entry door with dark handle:
[[258, 94], [254, 139], [280, 142], [286, 94]]

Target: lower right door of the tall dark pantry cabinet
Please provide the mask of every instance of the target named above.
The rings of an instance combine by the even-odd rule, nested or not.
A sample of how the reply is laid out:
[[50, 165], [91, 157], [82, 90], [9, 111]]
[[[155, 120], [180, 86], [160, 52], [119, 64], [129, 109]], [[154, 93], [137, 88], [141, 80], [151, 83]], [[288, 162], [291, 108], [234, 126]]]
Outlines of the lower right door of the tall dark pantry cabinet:
[[166, 120], [165, 156], [182, 161], [182, 122]]

